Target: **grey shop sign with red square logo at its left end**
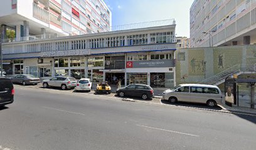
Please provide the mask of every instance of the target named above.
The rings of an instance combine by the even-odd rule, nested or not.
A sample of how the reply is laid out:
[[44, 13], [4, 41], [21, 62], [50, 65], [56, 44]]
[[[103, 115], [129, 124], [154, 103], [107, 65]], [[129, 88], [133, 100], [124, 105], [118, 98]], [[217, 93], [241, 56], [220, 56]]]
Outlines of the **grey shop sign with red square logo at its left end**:
[[127, 61], [126, 68], [165, 68], [174, 67], [175, 60]]

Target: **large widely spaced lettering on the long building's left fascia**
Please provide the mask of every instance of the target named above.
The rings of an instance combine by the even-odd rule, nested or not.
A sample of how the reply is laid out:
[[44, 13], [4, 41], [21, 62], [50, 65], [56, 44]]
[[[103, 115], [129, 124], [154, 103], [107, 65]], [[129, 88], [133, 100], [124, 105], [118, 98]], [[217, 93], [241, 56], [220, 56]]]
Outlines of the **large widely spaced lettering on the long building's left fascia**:
[[58, 57], [58, 56], [79, 56], [90, 54], [88, 49], [68, 50], [68, 51], [48, 51], [41, 52], [41, 57]]

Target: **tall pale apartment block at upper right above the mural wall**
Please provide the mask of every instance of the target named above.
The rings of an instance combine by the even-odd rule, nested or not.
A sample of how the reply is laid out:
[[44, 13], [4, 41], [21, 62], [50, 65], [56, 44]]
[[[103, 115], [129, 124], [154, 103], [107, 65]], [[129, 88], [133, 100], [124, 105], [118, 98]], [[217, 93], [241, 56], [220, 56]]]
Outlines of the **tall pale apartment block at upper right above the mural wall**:
[[195, 0], [190, 8], [191, 47], [256, 43], [256, 0]]

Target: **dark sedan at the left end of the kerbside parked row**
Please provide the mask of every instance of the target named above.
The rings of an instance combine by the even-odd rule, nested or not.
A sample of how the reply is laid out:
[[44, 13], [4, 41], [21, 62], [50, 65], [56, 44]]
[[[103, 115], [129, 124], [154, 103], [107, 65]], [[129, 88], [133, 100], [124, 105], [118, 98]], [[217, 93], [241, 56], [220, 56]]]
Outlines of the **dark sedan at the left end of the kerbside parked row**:
[[23, 86], [25, 86], [26, 84], [38, 84], [40, 83], [40, 79], [36, 78], [35, 76], [31, 75], [31, 74], [19, 74], [17, 76], [14, 76], [13, 78], [11, 78], [11, 81], [13, 83], [21, 83], [23, 84]]

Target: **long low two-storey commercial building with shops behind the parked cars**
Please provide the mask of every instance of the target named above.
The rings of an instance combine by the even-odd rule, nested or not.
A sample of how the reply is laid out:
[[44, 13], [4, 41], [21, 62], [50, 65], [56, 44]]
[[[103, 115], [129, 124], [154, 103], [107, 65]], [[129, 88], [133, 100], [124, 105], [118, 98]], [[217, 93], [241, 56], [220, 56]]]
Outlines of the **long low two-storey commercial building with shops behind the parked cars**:
[[3, 44], [7, 74], [73, 76], [123, 85], [175, 84], [175, 24]]

